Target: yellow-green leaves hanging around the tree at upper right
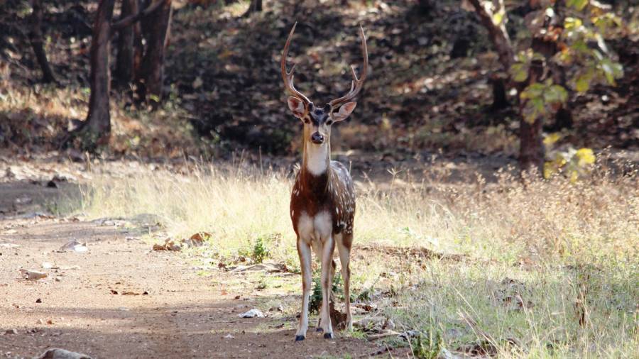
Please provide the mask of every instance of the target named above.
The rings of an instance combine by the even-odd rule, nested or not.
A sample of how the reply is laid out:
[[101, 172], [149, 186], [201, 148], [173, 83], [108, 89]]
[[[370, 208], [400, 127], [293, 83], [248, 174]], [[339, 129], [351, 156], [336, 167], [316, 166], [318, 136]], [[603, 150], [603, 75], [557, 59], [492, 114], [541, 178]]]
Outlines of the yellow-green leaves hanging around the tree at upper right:
[[[536, 23], [543, 23], [547, 16], [557, 16], [550, 2], [545, 11], [537, 11]], [[555, 65], [567, 69], [567, 84], [577, 92], [588, 91], [592, 84], [602, 83], [616, 85], [616, 79], [623, 77], [623, 67], [608, 50], [606, 38], [621, 34], [624, 24], [621, 18], [609, 11], [606, 6], [591, 3], [588, 0], [567, 1], [572, 16], [564, 18], [564, 31], [550, 32], [550, 28], [530, 26], [530, 31], [545, 37], [557, 36], [555, 42], [559, 51], [552, 58], [546, 59], [532, 50], [522, 51], [515, 57], [510, 67], [510, 77], [515, 82], [525, 82], [533, 61], [545, 65]], [[570, 70], [574, 69], [574, 70]], [[523, 116], [526, 121], [534, 122], [555, 113], [559, 105], [567, 101], [568, 89], [547, 79], [543, 84], [533, 83], [523, 89], [520, 99], [523, 101]]]

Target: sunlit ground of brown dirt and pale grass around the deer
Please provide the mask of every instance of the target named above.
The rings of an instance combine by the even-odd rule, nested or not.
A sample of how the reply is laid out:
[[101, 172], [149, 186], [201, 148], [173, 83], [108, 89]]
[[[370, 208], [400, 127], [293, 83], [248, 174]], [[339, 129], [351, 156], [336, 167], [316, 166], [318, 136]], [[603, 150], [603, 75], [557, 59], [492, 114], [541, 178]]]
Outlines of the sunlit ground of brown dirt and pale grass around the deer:
[[302, 343], [290, 159], [0, 155], [0, 357], [630, 357], [637, 155], [576, 183], [502, 157], [352, 162], [356, 325], [325, 340], [312, 314]]

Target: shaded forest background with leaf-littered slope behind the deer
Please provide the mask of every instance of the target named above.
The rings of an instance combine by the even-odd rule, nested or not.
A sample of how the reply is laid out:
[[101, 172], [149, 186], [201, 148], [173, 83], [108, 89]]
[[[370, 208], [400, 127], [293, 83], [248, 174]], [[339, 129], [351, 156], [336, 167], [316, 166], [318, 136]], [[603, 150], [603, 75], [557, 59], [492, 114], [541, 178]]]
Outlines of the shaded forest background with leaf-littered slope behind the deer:
[[[390, 160], [437, 151], [521, 158], [520, 127], [530, 121], [521, 121], [527, 100], [520, 94], [529, 83], [515, 79], [540, 54], [530, 50], [537, 33], [555, 53], [577, 54], [562, 63], [552, 51], [539, 55], [550, 70], [542, 70], [537, 82], [552, 79], [565, 89], [540, 106], [542, 128], [533, 142], [547, 138], [546, 161], [552, 160], [549, 143], [638, 149], [639, 11], [633, 1], [148, 2], [1, 1], [0, 145], [16, 154], [295, 155], [301, 126], [286, 108], [279, 60], [297, 21], [290, 52], [298, 64], [297, 88], [320, 103], [348, 90], [349, 65], [361, 63], [357, 29], [361, 24], [366, 30], [371, 73], [357, 110], [338, 126], [334, 149]], [[486, 4], [493, 20], [505, 14], [493, 28], [482, 22], [486, 11], [476, 11]], [[111, 20], [98, 18], [99, 7], [109, 5]], [[548, 16], [549, 9], [555, 16]], [[583, 22], [579, 44], [579, 29], [552, 22], [559, 15]], [[102, 36], [107, 51], [92, 60], [101, 21], [112, 27]], [[510, 40], [508, 70], [495, 35], [500, 27]], [[557, 28], [563, 32], [554, 39], [543, 35]], [[38, 41], [40, 53], [33, 50]], [[584, 49], [609, 63], [593, 65]], [[43, 56], [48, 65], [42, 67]], [[594, 69], [589, 77], [582, 73], [588, 66]], [[110, 70], [110, 89], [92, 88], [92, 71], [101, 81], [98, 67]], [[146, 73], [151, 67], [160, 71], [154, 77], [159, 84]], [[532, 70], [526, 81], [535, 82], [531, 78]], [[97, 130], [106, 140], [97, 145], [72, 136], [99, 112], [89, 114], [92, 90], [107, 101], [95, 106], [110, 110], [110, 128]]]

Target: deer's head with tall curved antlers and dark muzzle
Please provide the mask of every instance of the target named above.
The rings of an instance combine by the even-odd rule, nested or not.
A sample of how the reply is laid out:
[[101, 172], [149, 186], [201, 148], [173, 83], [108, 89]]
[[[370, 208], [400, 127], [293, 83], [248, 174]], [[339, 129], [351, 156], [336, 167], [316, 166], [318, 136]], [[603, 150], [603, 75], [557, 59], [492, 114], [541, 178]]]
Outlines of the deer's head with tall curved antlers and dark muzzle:
[[324, 146], [328, 147], [331, 136], [331, 126], [333, 123], [344, 121], [353, 112], [356, 102], [351, 101], [360, 92], [364, 80], [366, 80], [366, 74], [368, 73], [368, 50], [366, 48], [366, 36], [364, 35], [364, 28], [359, 27], [361, 38], [361, 52], [364, 55], [364, 65], [361, 68], [361, 75], [358, 78], [355, 73], [355, 67], [351, 66], [353, 74], [353, 81], [351, 82], [351, 90], [348, 94], [329, 101], [324, 106], [315, 106], [315, 104], [308, 99], [307, 96], [295, 89], [293, 85], [293, 71], [295, 71], [295, 64], [291, 67], [290, 71], [286, 70], [286, 56], [288, 55], [288, 48], [290, 40], [293, 38], [295, 32], [295, 26], [290, 30], [284, 50], [282, 54], [282, 78], [284, 84], [291, 96], [288, 97], [288, 108], [293, 112], [293, 115], [302, 120], [304, 123], [304, 148], [307, 145]]

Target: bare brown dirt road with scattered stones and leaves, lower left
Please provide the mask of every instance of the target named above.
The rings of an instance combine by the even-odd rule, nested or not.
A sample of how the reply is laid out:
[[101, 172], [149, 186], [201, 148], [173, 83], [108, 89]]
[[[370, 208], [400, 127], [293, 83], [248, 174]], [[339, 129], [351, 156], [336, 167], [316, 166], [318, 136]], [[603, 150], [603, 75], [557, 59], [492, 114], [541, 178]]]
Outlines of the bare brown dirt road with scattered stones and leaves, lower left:
[[[0, 197], [16, 203], [21, 188], [34, 189], [0, 186]], [[87, 250], [59, 251], [72, 240]], [[48, 277], [26, 280], [20, 269]], [[153, 251], [117, 223], [2, 209], [0, 357], [31, 358], [53, 347], [93, 358], [341, 358], [379, 349], [341, 333], [324, 340], [312, 329], [294, 343], [295, 315], [240, 319], [265, 299], [251, 289], [229, 293], [229, 276], [198, 275], [183, 255]]]

